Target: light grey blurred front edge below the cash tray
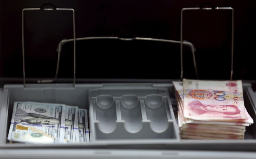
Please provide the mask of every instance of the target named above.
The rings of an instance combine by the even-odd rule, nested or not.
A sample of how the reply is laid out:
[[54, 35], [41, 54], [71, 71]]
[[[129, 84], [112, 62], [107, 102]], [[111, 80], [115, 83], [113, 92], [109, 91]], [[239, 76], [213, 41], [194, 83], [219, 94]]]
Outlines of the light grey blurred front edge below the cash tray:
[[[15, 152], [15, 153], [13, 153]], [[255, 159], [256, 152], [175, 151], [135, 149], [0, 149], [5, 159]]]

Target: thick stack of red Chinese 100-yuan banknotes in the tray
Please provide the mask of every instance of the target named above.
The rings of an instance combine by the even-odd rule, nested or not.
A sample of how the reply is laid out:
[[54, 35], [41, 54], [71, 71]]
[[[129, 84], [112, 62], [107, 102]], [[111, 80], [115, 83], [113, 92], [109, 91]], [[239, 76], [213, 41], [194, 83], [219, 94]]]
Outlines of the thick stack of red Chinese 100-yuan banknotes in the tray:
[[182, 139], [244, 139], [253, 123], [244, 107], [242, 81], [173, 82]]

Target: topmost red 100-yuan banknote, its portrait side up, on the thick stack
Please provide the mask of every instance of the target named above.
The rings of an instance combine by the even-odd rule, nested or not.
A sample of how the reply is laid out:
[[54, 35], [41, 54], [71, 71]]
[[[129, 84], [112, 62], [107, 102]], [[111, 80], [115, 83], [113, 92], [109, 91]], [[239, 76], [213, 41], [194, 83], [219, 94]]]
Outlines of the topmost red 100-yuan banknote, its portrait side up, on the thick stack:
[[246, 119], [242, 81], [183, 80], [184, 117], [194, 120]]

